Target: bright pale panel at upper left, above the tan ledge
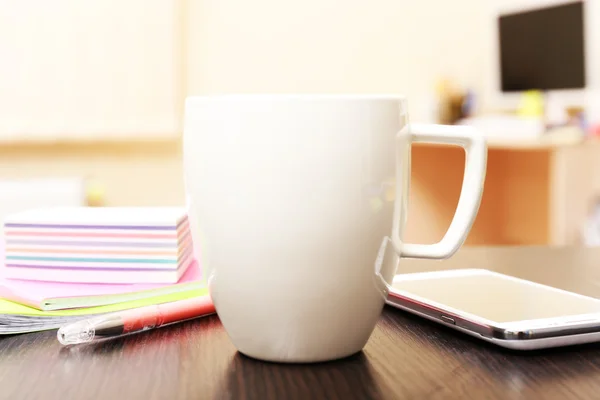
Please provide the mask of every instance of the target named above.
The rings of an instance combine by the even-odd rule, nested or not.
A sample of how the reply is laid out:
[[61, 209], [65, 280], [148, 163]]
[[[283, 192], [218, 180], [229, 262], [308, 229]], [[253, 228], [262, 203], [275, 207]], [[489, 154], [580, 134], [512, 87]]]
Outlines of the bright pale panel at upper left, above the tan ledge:
[[180, 1], [0, 0], [0, 141], [176, 137]]

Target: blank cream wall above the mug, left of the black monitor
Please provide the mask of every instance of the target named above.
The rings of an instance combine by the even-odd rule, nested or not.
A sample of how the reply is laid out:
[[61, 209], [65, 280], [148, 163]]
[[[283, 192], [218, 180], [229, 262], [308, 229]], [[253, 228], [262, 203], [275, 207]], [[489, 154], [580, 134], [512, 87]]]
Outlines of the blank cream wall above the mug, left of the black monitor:
[[190, 0], [188, 89], [400, 93], [427, 120], [436, 79], [482, 88], [481, 0]]

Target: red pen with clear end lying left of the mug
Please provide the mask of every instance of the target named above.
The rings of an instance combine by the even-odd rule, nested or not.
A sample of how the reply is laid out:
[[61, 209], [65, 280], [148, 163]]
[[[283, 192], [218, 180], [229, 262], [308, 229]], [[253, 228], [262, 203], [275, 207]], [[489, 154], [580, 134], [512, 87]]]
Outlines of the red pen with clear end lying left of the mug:
[[93, 317], [61, 327], [58, 341], [63, 345], [89, 343], [202, 317], [215, 312], [210, 296], [134, 308]]

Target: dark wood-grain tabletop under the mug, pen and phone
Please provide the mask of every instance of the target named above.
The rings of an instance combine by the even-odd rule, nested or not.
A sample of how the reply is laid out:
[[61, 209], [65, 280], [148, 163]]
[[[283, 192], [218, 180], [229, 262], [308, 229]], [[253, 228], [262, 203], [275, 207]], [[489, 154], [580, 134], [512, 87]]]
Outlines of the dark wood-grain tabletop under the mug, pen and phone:
[[[489, 268], [600, 297], [600, 249], [466, 248], [400, 272]], [[365, 349], [313, 365], [238, 354], [217, 316], [92, 346], [0, 338], [2, 399], [600, 398], [600, 344], [505, 350], [386, 307]]]

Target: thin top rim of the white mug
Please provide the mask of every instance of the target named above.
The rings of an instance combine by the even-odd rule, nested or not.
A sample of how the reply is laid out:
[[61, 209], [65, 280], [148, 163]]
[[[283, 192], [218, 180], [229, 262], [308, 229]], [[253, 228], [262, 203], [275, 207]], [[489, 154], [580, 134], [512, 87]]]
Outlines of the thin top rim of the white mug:
[[222, 93], [191, 95], [185, 103], [224, 100], [337, 100], [337, 101], [406, 101], [406, 96], [384, 93]]

